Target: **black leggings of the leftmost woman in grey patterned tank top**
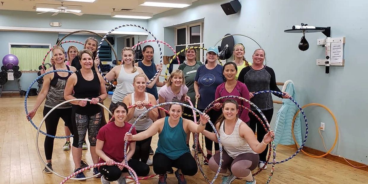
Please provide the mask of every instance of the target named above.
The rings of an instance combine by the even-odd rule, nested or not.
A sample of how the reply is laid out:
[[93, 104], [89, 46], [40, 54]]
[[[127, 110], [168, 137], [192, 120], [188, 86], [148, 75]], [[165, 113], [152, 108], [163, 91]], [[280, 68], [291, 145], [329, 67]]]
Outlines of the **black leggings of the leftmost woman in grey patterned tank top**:
[[[51, 109], [52, 109], [51, 107], [44, 107], [43, 116], [46, 116], [46, 114], [50, 112]], [[73, 130], [71, 123], [71, 114], [72, 114], [71, 108], [53, 110], [53, 112], [51, 112], [49, 116], [47, 116], [47, 118], [45, 119], [46, 133], [49, 135], [56, 135], [57, 124], [59, 124], [60, 118], [63, 119], [64, 124], [68, 126], [70, 130]], [[73, 135], [73, 131], [71, 131], [71, 134]], [[54, 138], [46, 136], [44, 147], [45, 147], [46, 160], [51, 160], [52, 151], [54, 149]]]

